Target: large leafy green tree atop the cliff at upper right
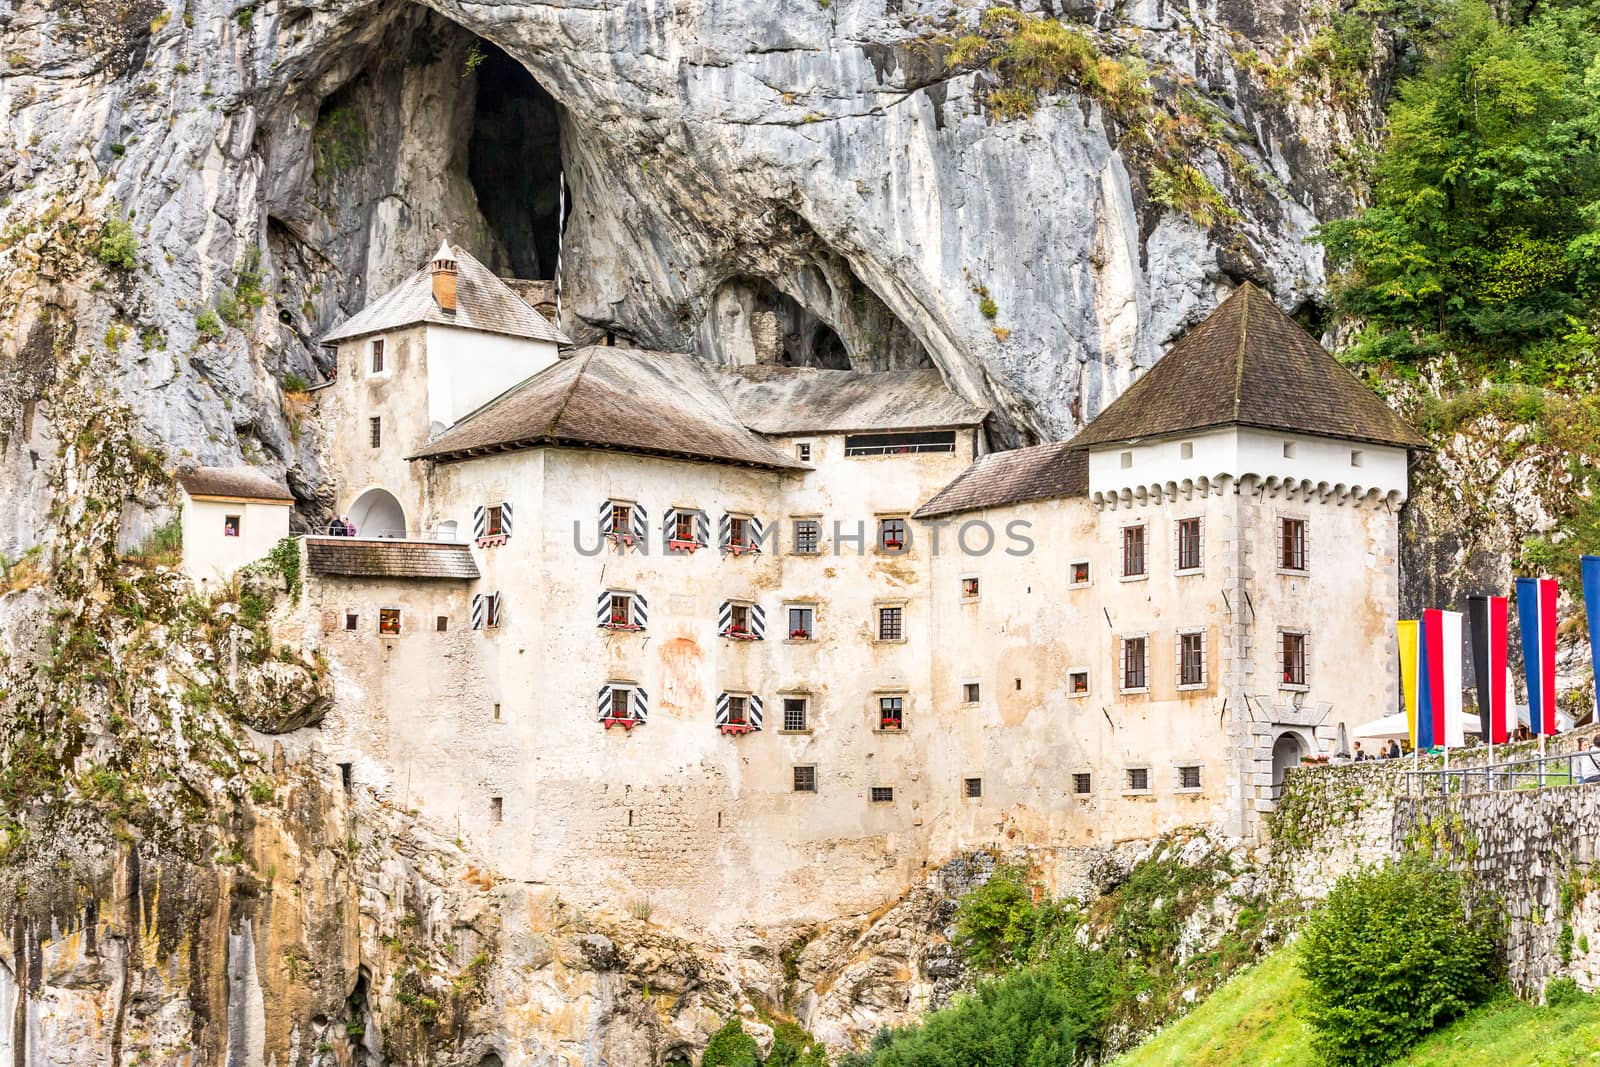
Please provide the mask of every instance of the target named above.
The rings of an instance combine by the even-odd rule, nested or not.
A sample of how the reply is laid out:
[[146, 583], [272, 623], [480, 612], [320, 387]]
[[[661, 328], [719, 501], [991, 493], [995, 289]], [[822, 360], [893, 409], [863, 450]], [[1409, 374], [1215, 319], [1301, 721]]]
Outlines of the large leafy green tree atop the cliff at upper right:
[[1600, 296], [1600, 3], [1502, 22], [1462, 0], [1400, 86], [1373, 203], [1325, 224], [1354, 355], [1488, 362], [1592, 322]]

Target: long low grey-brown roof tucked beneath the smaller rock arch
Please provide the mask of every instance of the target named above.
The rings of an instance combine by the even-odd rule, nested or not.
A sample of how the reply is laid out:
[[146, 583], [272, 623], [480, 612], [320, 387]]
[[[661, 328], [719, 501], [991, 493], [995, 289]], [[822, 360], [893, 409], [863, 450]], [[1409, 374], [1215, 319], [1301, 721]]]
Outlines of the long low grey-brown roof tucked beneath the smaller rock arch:
[[843, 434], [978, 426], [987, 410], [966, 403], [936, 370], [824, 371], [813, 366], [722, 368], [723, 392], [757, 434]]

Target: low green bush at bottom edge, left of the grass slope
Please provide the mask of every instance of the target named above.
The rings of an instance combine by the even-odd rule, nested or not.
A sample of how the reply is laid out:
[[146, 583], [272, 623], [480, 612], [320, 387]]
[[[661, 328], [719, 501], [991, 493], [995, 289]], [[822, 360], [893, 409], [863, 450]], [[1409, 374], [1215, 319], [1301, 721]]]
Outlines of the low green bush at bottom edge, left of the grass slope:
[[1080, 1024], [1067, 990], [1038, 971], [1018, 971], [984, 982], [920, 1027], [878, 1033], [869, 1051], [846, 1056], [840, 1067], [1072, 1067], [1090, 1051]]

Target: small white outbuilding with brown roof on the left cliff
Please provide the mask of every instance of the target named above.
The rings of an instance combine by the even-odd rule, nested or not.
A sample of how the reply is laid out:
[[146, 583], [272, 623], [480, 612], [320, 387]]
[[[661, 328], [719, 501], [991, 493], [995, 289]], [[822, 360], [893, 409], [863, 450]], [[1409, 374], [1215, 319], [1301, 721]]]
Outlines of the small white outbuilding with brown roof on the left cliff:
[[290, 534], [294, 496], [254, 467], [181, 470], [184, 573], [222, 579], [254, 563]]

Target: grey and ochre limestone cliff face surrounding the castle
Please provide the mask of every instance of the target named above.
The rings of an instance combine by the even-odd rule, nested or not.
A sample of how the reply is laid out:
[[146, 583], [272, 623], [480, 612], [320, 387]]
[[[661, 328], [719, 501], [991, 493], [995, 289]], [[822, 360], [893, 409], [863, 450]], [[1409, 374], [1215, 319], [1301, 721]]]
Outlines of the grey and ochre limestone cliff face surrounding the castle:
[[182, 456], [331, 507], [296, 386], [443, 235], [558, 272], [578, 339], [933, 363], [1014, 440], [1070, 432], [1222, 285], [1315, 298], [1304, 238], [1373, 115], [1285, 88], [1304, 5], [1064, 18], [1189, 115], [1213, 211], [1163, 206], [1091, 98], [990, 114], [947, 0], [0, 0], [0, 1056], [654, 1064], [734, 1011], [842, 1046], [947, 987], [960, 878], [715, 933], [504, 885], [320, 757], [288, 587], [195, 601], [134, 549]]

